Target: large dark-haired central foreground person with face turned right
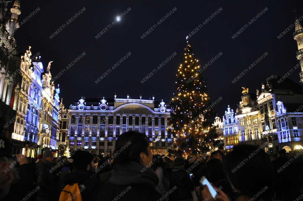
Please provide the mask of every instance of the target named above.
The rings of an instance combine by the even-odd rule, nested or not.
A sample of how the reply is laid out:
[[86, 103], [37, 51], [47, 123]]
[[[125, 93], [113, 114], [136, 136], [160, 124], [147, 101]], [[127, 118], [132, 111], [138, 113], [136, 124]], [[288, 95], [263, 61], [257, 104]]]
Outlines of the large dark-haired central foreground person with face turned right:
[[[149, 168], [152, 161], [149, 139], [143, 133], [128, 131], [115, 144], [110, 184], [99, 190], [99, 200], [159, 200], [159, 179]], [[123, 196], [121, 193], [123, 192]]]

